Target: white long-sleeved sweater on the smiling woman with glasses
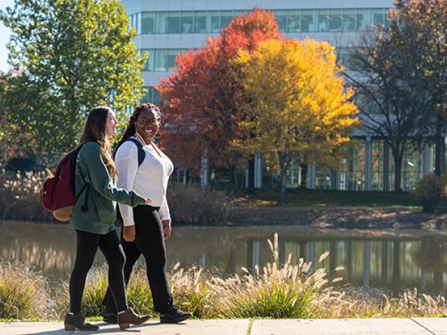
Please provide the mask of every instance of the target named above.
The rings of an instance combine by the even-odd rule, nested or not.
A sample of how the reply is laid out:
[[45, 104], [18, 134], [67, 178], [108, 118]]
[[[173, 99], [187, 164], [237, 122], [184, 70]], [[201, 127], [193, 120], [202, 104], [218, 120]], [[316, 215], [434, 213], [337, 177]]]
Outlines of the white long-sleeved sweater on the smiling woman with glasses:
[[[145, 145], [139, 136], [135, 137], [143, 145], [145, 160], [138, 167], [138, 148], [135, 143], [124, 142], [115, 154], [115, 165], [117, 167], [119, 188], [135, 191], [143, 198], [150, 197], [152, 202], [148, 205], [160, 207], [161, 220], [170, 220], [168, 201], [166, 200], [166, 188], [170, 174], [173, 173], [174, 165], [168, 156], [161, 150]], [[135, 225], [133, 222], [132, 207], [119, 204], [124, 225]]]

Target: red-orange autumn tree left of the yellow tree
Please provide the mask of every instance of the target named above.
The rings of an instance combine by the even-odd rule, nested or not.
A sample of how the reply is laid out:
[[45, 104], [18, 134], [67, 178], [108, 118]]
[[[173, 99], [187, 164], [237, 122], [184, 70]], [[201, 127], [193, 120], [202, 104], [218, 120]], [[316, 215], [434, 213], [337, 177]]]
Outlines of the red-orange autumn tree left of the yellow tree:
[[244, 116], [247, 96], [235, 79], [235, 66], [230, 60], [238, 50], [251, 52], [259, 42], [270, 38], [280, 38], [274, 15], [255, 8], [253, 13], [235, 17], [197, 52], [180, 54], [177, 71], [156, 86], [168, 102], [163, 106], [163, 141], [170, 154], [188, 168], [198, 168], [203, 155], [213, 166], [228, 167], [233, 194], [241, 154], [230, 142], [239, 134], [237, 121]]

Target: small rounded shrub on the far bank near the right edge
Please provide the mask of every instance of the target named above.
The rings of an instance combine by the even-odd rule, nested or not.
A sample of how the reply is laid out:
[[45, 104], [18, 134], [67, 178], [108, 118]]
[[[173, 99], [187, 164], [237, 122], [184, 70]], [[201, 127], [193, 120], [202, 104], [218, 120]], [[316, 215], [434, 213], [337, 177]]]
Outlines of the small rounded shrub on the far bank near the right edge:
[[434, 211], [441, 200], [445, 181], [436, 174], [421, 178], [413, 190], [413, 195], [423, 205], [424, 211]]

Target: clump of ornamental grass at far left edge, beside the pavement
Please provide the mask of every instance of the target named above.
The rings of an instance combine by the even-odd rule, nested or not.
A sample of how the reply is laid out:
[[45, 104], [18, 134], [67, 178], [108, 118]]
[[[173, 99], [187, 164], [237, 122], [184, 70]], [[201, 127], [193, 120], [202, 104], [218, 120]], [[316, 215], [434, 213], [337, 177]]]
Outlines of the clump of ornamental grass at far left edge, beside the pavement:
[[45, 278], [25, 265], [0, 263], [0, 318], [47, 318], [50, 313]]

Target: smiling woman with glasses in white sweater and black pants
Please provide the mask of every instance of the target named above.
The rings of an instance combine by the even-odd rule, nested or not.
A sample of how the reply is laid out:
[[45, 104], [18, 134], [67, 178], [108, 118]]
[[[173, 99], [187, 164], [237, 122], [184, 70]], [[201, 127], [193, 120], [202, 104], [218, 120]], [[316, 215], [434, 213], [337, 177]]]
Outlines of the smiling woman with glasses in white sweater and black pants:
[[[152, 202], [150, 206], [140, 205], [134, 208], [119, 204], [123, 221], [121, 243], [126, 255], [126, 285], [133, 265], [142, 254], [146, 260], [154, 311], [160, 313], [161, 322], [175, 323], [192, 315], [173, 304], [173, 296], [166, 281], [165, 239], [170, 237], [171, 231], [166, 188], [174, 165], [153, 142], [154, 138], [160, 135], [159, 107], [152, 103], [142, 103], [135, 107], [126, 133], [115, 151], [118, 187], [135, 191], [143, 197], [150, 197]], [[144, 151], [143, 155], [141, 150]], [[116, 322], [116, 307], [109, 290], [105, 295], [104, 304], [104, 321]]]

